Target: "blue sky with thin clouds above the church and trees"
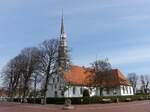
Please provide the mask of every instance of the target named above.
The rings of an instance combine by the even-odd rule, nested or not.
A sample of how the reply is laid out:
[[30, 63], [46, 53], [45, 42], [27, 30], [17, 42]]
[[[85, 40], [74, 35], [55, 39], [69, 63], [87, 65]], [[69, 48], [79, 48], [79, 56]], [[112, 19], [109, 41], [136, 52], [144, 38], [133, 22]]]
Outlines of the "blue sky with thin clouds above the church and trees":
[[123, 73], [150, 73], [150, 0], [0, 0], [0, 69], [24, 47], [57, 38], [61, 9], [72, 62], [107, 57]]

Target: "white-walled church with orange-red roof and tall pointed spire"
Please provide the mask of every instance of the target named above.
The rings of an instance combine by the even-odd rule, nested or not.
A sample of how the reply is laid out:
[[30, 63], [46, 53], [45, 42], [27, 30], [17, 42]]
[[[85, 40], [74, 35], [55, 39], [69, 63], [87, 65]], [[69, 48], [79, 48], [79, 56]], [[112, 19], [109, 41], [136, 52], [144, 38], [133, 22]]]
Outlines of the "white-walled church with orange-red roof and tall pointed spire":
[[[100, 89], [89, 80], [94, 72], [85, 67], [68, 64], [67, 35], [64, 31], [63, 16], [58, 50], [58, 72], [49, 79], [47, 97], [82, 97], [86, 90], [90, 96], [99, 96]], [[129, 80], [118, 70], [112, 69], [112, 80], [105, 81], [103, 96], [133, 95], [133, 88]]]

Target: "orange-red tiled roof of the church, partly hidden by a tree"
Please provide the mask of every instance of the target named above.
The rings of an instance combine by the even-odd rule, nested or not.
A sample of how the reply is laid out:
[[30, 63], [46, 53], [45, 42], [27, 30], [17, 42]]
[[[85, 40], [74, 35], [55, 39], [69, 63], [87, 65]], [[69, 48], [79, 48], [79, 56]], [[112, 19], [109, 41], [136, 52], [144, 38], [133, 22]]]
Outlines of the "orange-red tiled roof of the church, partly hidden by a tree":
[[[92, 77], [95, 72], [85, 67], [79, 67], [76, 65], [70, 65], [69, 71], [63, 73], [64, 79], [67, 83], [72, 85], [94, 85]], [[111, 79], [105, 79], [103, 81], [104, 86], [117, 86], [117, 85], [131, 85], [125, 76], [118, 70], [112, 69], [110, 72]]]

